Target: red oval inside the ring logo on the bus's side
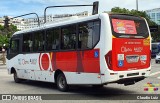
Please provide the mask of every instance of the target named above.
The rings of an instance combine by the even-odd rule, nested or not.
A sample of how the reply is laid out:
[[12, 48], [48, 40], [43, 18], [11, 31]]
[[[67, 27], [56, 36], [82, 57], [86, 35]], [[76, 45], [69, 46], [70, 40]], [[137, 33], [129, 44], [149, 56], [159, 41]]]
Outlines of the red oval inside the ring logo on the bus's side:
[[43, 70], [48, 70], [48, 68], [49, 68], [49, 57], [48, 57], [47, 54], [42, 55], [41, 64], [42, 64]]

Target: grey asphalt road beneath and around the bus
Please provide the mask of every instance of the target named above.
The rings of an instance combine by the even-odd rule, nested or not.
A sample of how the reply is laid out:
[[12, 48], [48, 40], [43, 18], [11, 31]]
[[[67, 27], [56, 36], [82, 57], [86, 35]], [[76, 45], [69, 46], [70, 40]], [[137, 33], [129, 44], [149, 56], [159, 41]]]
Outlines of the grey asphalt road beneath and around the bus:
[[[56, 85], [52, 83], [36, 81], [15, 83], [13, 80], [13, 75], [8, 75], [6, 66], [0, 64], [0, 94], [51, 94], [51, 96], [53, 96], [52, 94], [57, 94], [54, 96], [57, 96], [57, 98], [60, 96], [66, 96], [66, 100], [67, 98], [70, 98], [70, 100], [74, 99], [74, 95], [76, 94], [78, 95], [78, 99], [80, 100], [83, 100], [85, 98], [85, 102], [90, 102], [88, 100], [99, 101], [103, 99], [109, 100], [108, 102], [111, 102], [110, 100], [114, 100], [117, 98], [125, 99], [124, 96], [121, 97], [122, 94], [160, 94], [160, 87], [158, 87], [158, 91], [148, 92], [144, 90], [145, 84], [147, 83], [160, 84], [160, 64], [155, 64], [154, 59], [152, 59], [151, 64], [151, 76], [134, 85], [124, 86], [122, 84], [108, 84], [104, 88], [99, 89], [94, 89], [91, 86], [71, 86], [69, 92], [58, 91]], [[99, 94], [103, 94], [103, 96]], [[72, 100], [72, 102], [73, 101], [74, 100]]]

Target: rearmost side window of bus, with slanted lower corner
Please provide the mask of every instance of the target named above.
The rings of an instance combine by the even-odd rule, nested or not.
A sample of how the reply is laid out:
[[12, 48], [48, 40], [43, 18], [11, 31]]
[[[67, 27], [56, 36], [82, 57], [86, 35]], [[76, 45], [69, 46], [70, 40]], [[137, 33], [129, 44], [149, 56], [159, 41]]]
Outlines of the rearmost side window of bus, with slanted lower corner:
[[92, 49], [99, 41], [99, 21], [79, 24], [78, 48]]

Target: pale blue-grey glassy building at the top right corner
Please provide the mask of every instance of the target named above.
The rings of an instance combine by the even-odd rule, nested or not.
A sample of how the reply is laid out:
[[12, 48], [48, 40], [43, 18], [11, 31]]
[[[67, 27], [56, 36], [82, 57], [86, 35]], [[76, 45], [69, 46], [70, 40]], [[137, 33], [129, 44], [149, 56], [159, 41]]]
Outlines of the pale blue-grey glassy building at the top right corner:
[[160, 8], [146, 10], [145, 12], [152, 21], [160, 25]]

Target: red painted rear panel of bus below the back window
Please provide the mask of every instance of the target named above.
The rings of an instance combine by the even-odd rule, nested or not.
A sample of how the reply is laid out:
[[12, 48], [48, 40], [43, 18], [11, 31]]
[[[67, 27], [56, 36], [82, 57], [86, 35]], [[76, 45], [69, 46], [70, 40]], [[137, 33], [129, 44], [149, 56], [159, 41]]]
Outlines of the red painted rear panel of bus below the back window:
[[[150, 66], [150, 44], [145, 39], [113, 38], [112, 43], [112, 66], [114, 71], [146, 69]], [[143, 49], [141, 50], [141, 48]], [[122, 67], [118, 66], [118, 54], [124, 54], [124, 65]], [[128, 63], [126, 56], [129, 55], [146, 55], [147, 59], [141, 61], [139, 58], [136, 63]]]

